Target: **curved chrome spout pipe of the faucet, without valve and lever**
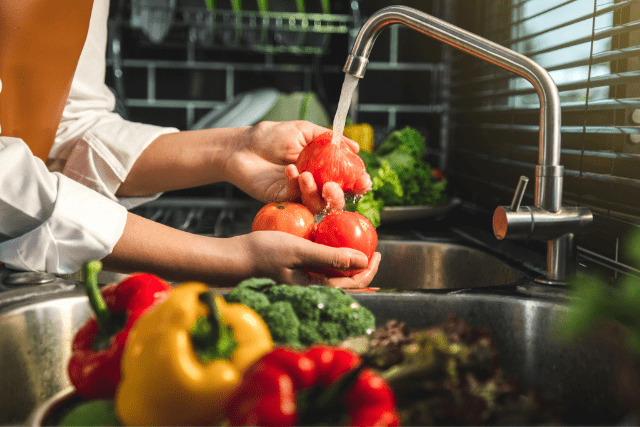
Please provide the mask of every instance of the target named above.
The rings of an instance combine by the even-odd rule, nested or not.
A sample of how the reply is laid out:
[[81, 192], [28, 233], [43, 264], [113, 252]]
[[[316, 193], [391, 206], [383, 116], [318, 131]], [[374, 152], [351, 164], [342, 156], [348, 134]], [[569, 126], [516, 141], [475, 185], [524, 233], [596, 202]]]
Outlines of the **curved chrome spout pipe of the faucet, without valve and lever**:
[[364, 23], [343, 71], [356, 77], [364, 77], [373, 43], [380, 32], [392, 24], [406, 25], [496, 64], [524, 77], [534, 86], [540, 98], [536, 206], [550, 212], [559, 211], [562, 204], [563, 175], [560, 166], [560, 96], [549, 73], [524, 55], [407, 6], [386, 7]]

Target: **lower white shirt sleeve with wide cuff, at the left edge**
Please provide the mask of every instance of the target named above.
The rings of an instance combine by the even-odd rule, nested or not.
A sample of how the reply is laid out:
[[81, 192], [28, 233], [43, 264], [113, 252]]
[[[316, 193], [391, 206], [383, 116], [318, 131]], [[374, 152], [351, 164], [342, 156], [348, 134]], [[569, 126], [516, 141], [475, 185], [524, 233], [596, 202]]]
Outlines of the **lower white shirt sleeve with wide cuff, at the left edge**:
[[21, 139], [0, 137], [0, 261], [71, 274], [102, 259], [122, 235], [124, 206], [47, 170]]

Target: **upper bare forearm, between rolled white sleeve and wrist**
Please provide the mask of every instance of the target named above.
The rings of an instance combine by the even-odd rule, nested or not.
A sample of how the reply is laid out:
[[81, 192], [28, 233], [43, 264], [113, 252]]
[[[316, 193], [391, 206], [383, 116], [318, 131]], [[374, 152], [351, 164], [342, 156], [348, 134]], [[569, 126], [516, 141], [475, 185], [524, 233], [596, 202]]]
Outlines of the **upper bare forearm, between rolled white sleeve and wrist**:
[[225, 163], [246, 128], [161, 135], [136, 160], [118, 197], [138, 197], [226, 181]]

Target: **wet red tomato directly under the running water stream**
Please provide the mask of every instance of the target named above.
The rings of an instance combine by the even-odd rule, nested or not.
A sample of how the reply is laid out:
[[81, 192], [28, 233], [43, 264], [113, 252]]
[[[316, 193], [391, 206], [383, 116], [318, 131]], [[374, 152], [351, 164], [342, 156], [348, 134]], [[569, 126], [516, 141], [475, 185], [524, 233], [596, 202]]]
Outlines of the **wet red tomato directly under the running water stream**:
[[345, 142], [333, 144], [332, 137], [333, 132], [325, 132], [302, 149], [298, 172], [311, 172], [319, 191], [326, 182], [336, 182], [345, 193], [355, 193], [358, 179], [366, 173], [364, 162]]

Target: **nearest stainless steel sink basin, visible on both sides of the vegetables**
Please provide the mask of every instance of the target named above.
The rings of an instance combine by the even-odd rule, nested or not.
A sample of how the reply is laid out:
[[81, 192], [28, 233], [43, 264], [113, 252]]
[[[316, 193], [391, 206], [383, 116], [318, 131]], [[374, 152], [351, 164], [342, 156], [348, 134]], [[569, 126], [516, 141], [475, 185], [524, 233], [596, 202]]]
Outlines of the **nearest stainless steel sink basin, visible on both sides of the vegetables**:
[[[396, 318], [422, 328], [453, 314], [488, 328], [505, 373], [517, 375], [524, 387], [540, 387], [560, 408], [577, 414], [578, 424], [610, 424], [626, 409], [616, 392], [619, 353], [593, 340], [559, 340], [556, 317], [564, 310], [559, 300], [486, 289], [353, 295], [378, 324]], [[70, 386], [70, 342], [89, 315], [80, 287], [0, 308], [1, 425], [26, 422], [35, 408]]]

